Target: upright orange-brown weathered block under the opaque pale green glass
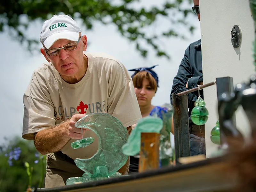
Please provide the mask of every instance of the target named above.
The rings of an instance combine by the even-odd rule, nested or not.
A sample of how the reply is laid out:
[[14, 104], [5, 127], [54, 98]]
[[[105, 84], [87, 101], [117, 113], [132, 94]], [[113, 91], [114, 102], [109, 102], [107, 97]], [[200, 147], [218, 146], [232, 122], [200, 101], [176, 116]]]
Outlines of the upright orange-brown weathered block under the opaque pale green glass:
[[159, 133], [141, 133], [139, 172], [159, 167]]

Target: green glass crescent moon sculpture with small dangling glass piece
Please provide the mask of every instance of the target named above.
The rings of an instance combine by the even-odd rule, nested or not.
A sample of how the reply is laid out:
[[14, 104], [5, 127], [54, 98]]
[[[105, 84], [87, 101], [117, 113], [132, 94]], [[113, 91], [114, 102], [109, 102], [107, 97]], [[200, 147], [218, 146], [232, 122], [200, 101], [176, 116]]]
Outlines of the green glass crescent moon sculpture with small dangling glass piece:
[[[88, 159], [76, 158], [76, 166], [84, 171], [82, 177], [71, 177], [66, 185], [108, 179], [121, 175], [117, 172], [127, 161], [128, 156], [122, 152], [122, 146], [127, 142], [128, 132], [123, 124], [107, 113], [92, 113], [79, 119], [75, 126], [95, 132], [99, 137], [99, 148], [95, 155]], [[93, 138], [77, 140], [72, 148], [90, 145]]]

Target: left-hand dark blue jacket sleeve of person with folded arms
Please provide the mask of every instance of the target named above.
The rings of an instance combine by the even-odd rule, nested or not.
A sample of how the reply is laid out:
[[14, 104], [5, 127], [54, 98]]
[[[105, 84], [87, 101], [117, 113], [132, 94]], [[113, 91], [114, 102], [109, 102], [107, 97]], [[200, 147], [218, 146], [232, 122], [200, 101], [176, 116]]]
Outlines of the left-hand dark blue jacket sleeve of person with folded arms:
[[[186, 84], [188, 79], [192, 77], [192, 71], [189, 64], [189, 48], [185, 51], [184, 58], [181, 60], [180, 67], [177, 75], [173, 79], [172, 91], [170, 95], [171, 104], [172, 104], [172, 93], [180, 93], [188, 90]], [[188, 93], [188, 108], [194, 107], [194, 102], [197, 99], [197, 92]]]

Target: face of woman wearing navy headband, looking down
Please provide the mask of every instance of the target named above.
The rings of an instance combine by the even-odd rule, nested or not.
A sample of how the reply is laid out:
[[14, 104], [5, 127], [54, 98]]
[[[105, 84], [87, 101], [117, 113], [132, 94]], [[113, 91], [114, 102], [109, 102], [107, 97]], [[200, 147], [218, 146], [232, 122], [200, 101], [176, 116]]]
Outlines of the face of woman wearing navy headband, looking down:
[[141, 87], [134, 87], [135, 94], [140, 106], [151, 104], [152, 98], [155, 96], [155, 90], [153, 90], [146, 78], [142, 81]]

